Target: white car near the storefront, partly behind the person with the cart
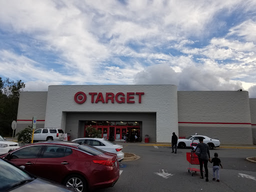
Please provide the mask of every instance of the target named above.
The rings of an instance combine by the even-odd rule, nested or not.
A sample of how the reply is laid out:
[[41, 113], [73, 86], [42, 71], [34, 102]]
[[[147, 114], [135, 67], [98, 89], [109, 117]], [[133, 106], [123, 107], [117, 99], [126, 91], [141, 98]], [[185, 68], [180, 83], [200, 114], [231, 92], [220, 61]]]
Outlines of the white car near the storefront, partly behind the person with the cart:
[[213, 149], [214, 147], [219, 147], [220, 142], [216, 138], [209, 138], [204, 135], [190, 135], [186, 138], [179, 138], [177, 141], [177, 146], [179, 148], [184, 148], [184, 147], [191, 147], [191, 143], [199, 143], [198, 138], [203, 137], [203, 142], [209, 145], [210, 149]]

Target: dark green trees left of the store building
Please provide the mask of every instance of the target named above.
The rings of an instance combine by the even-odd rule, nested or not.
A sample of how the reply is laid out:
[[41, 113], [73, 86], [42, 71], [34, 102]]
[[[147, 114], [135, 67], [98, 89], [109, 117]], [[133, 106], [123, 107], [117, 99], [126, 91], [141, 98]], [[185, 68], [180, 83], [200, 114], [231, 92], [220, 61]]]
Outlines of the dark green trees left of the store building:
[[0, 135], [12, 136], [11, 122], [17, 120], [19, 92], [25, 88], [24, 82], [2, 80], [0, 77]]

